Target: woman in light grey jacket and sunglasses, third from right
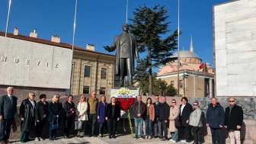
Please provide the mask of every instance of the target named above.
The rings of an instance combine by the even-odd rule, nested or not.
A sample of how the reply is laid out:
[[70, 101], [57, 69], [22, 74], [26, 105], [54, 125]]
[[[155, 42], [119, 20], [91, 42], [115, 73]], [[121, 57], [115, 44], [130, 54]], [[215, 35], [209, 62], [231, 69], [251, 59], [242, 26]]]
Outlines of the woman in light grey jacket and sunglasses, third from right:
[[199, 103], [194, 101], [194, 110], [190, 114], [189, 125], [192, 126], [192, 133], [194, 136], [194, 144], [200, 144], [200, 127], [203, 126], [202, 123], [202, 110], [199, 107]]

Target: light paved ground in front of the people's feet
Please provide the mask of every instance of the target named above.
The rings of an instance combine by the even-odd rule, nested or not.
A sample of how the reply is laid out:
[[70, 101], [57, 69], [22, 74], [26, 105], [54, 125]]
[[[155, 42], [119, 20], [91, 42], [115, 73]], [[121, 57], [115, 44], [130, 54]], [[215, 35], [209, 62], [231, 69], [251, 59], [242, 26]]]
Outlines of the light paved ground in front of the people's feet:
[[[11, 140], [14, 144], [21, 144], [19, 139]], [[108, 135], [104, 137], [72, 137], [71, 139], [63, 139], [59, 137], [56, 140], [50, 141], [44, 139], [43, 141], [35, 142], [34, 140], [26, 142], [26, 144], [158, 144], [158, 143], [174, 143], [171, 141], [161, 141], [161, 139], [133, 139], [130, 135], [117, 135], [117, 139], [109, 139]], [[178, 142], [184, 143], [184, 142]], [[190, 142], [190, 144], [193, 143]], [[204, 142], [204, 144], [210, 144], [210, 142]]]

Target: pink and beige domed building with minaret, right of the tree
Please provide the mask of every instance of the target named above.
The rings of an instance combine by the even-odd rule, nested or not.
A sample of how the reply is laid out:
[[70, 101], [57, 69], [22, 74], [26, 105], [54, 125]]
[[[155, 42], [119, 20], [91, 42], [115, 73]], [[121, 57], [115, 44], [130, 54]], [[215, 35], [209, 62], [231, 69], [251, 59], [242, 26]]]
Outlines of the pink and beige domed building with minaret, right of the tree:
[[[173, 53], [173, 57], [178, 57], [178, 53]], [[202, 62], [199, 56], [194, 53], [194, 46], [190, 42], [190, 50], [180, 51], [180, 62], [169, 62], [158, 70], [158, 77], [174, 88], [180, 88], [180, 96], [186, 97], [213, 97], [214, 92], [214, 72], [209, 62]], [[203, 69], [200, 69], [201, 65]], [[179, 82], [178, 82], [178, 66]]]

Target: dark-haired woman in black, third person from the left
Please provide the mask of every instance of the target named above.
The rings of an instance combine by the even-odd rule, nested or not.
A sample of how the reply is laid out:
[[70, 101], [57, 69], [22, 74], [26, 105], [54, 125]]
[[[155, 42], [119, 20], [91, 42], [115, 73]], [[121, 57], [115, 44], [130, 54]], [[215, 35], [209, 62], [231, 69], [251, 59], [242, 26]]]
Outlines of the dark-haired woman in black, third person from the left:
[[35, 132], [36, 142], [43, 140], [43, 138], [41, 137], [43, 132], [43, 126], [46, 123], [46, 120], [48, 119], [48, 116], [49, 116], [49, 111], [48, 111], [49, 103], [46, 101], [46, 94], [40, 94], [39, 98], [40, 98], [40, 101], [37, 102], [37, 107], [36, 107], [36, 120], [37, 120], [36, 132]]

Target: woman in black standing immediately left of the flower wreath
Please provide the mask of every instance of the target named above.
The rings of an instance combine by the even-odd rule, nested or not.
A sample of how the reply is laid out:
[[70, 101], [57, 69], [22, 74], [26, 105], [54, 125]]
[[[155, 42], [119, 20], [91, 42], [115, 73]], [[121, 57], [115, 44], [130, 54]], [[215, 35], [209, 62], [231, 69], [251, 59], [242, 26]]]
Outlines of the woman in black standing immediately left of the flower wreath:
[[117, 99], [112, 97], [110, 104], [107, 104], [106, 120], [109, 133], [109, 139], [116, 138], [117, 121], [120, 120], [120, 105], [117, 104]]

